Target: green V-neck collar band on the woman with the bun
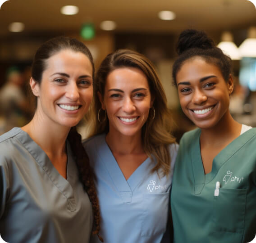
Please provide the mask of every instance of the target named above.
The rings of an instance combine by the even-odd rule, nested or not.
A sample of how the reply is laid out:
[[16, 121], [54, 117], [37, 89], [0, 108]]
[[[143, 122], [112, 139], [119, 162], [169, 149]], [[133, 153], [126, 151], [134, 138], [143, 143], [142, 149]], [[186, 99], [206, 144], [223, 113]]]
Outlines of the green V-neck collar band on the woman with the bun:
[[240, 148], [242, 148], [250, 139], [256, 135], [256, 128], [247, 130], [242, 135], [239, 135], [230, 144], [223, 148], [213, 159], [212, 170], [210, 173], [205, 174], [203, 162], [201, 159], [200, 149], [200, 135], [201, 129], [198, 129], [195, 133], [194, 143], [191, 149], [191, 162], [195, 181], [194, 193], [200, 194], [204, 185], [209, 183], [217, 175], [220, 167], [229, 160]]

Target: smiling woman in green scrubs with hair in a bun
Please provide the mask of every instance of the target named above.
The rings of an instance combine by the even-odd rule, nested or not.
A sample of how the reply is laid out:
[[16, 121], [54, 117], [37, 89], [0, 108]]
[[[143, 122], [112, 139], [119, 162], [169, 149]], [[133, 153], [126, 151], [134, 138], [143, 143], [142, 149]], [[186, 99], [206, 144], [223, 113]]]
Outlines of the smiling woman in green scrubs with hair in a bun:
[[185, 133], [174, 168], [175, 243], [244, 243], [256, 234], [256, 129], [229, 112], [231, 59], [204, 32], [185, 30], [173, 78]]

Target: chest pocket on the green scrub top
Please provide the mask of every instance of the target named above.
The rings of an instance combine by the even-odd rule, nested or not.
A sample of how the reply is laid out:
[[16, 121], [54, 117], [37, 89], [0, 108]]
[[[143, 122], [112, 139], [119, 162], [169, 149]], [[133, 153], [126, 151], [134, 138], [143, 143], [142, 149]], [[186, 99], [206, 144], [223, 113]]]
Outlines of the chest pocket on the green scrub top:
[[239, 234], [242, 236], [246, 196], [247, 189], [219, 189], [219, 196], [215, 196], [213, 201], [212, 230], [214, 234], [227, 232], [235, 233], [237, 238], [240, 238]]

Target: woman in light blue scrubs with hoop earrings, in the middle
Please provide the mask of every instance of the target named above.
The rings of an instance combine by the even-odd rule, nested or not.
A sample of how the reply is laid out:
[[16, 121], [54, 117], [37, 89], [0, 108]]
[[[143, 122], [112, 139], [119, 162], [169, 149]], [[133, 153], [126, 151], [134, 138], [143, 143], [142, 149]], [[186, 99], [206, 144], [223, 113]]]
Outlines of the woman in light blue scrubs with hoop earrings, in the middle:
[[178, 146], [152, 63], [132, 50], [109, 54], [97, 72], [94, 95], [94, 130], [84, 147], [95, 171], [100, 234], [108, 243], [169, 243]]

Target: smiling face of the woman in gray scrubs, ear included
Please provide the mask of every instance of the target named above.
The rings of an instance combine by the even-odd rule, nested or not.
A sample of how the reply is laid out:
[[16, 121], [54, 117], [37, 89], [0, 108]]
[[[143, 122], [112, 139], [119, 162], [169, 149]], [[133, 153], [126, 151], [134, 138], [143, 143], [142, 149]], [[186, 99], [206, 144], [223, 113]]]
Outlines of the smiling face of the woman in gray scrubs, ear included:
[[31, 79], [37, 114], [44, 122], [75, 126], [92, 99], [92, 66], [87, 56], [69, 49], [46, 60], [40, 83]]

